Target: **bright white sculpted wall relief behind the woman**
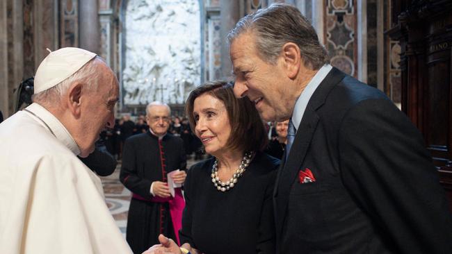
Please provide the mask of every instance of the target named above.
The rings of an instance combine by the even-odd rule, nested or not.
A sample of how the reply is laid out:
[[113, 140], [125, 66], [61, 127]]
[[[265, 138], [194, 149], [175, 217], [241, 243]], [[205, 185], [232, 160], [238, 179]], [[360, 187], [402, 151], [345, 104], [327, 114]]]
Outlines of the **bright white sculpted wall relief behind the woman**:
[[199, 2], [128, 1], [124, 27], [124, 104], [184, 103], [201, 82]]

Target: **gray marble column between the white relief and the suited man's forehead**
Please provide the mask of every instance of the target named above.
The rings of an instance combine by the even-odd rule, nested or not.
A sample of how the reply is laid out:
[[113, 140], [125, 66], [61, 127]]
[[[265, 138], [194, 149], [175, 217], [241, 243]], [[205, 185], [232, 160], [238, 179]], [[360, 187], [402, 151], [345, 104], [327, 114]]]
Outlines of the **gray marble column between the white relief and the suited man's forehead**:
[[229, 78], [232, 73], [232, 62], [229, 59], [227, 34], [234, 28], [240, 17], [239, 0], [220, 0], [220, 41], [221, 41], [221, 72], [222, 78]]

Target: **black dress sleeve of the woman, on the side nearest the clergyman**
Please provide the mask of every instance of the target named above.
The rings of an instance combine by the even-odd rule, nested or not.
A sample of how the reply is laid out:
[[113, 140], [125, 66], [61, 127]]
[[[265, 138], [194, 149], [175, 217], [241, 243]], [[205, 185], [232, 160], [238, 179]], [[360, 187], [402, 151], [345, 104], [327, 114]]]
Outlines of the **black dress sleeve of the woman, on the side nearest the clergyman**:
[[179, 238], [181, 244], [190, 244], [191, 247], [196, 248], [193, 243], [193, 238], [191, 237], [191, 195], [192, 195], [192, 183], [191, 178], [193, 174], [193, 167], [188, 169], [187, 177], [184, 184], [184, 198], [185, 198], [185, 208], [182, 214], [182, 228], [179, 230]]

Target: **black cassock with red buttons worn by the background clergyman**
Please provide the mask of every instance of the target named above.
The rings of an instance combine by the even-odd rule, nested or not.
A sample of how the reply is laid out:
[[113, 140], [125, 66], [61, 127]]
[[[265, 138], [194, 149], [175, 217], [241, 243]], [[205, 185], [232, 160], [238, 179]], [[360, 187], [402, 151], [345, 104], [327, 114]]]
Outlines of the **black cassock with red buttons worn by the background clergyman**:
[[179, 137], [167, 133], [159, 138], [148, 130], [126, 139], [120, 180], [133, 192], [126, 238], [134, 253], [158, 244], [159, 234], [177, 239], [169, 203], [154, 201], [150, 193], [153, 182], [166, 182], [167, 173], [176, 169], [186, 170], [184, 142]]

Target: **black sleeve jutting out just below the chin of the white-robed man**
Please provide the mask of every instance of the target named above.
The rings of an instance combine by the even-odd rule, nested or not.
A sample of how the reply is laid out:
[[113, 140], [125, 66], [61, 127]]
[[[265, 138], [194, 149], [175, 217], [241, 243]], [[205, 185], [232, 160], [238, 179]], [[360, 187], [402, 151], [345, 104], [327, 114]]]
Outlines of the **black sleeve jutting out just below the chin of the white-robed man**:
[[80, 158], [80, 160], [99, 176], [110, 176], [115, 171], [116, 164], [118, 164], [113, 155], [108, 153], [106, 149], [98, 147], [88, 157]]

